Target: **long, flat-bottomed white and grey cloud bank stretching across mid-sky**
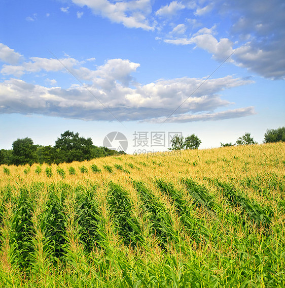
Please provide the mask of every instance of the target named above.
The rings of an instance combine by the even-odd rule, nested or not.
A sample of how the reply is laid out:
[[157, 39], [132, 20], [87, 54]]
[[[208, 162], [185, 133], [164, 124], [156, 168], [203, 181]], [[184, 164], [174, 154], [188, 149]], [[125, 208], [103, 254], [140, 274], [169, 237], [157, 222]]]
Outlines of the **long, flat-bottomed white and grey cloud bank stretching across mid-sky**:
[[[24, 72], [60, 71], [62, 65], [59, 63], [61, 67], [57, 66], [53, 60], [33, 57], [32, 61], [24, 63], [22, 68]], [[227, 76], [206, 82], [205, 79], [183, 77], [142, 85], [132, 77], [139, 63], [129, 60], [110, 59], [96, 70], [80, 67], [79, 62], [73, 58], [63, 58], [61, 61], [69, 66], [70, 71], [77, 77], [90, 80], [91, 83], [71, 85], [68, 89], [63, 89], [59, 86], [34, 85], [12, 78], [0, 83], [0, 113], [35, 113], [84, 120], [115, 120], [107, 107], [121, 121], [146, 120], [166, 117], [173, 112], [177, 103], [183, 102], [185, 103], [179, 109], [181, 114], [209, 113], [232, 104], [223, 100], [219, 92], [252, 83]], [[46, 80], [51, 85], [56, 84], [54, 79]], [[189, 98], [199, 86], [200, 89]]]

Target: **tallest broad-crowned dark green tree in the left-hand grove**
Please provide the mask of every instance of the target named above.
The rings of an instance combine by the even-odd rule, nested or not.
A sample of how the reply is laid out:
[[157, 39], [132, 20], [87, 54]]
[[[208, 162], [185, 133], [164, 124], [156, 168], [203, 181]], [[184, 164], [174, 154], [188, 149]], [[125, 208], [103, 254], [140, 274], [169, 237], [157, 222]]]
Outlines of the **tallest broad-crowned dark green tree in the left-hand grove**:
[[55, 141], [54, 148], [59, 149], [63, 162], [84, 161], [92, 158], [91, 138], [79, 137], [79, 133], [65, 131]]

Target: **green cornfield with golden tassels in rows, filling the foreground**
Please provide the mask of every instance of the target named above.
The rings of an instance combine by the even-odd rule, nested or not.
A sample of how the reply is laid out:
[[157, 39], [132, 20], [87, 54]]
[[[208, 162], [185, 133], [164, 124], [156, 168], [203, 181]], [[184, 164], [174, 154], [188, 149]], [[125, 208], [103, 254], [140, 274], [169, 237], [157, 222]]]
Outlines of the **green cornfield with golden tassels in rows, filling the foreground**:
[[285, 144], [0, 166], [1, 287], [284, 287]]

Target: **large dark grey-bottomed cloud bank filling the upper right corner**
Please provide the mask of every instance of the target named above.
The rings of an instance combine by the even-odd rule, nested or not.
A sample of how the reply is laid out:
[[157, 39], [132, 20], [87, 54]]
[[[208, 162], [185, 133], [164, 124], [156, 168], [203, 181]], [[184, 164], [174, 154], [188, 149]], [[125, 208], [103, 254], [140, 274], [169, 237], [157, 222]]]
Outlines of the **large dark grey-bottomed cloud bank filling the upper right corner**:
[[[185, 19], [185, 24], [190, 24], [192, 29], [197, 27], [195, 23], [203, 22], [203, 16], [212, 13], [214, 7], [212, 25], [218, 25], [204, 27], [192, 35], [174, 34], [173, 27], [169, 26], [164, 39], [161, 36], [157, 39], [174, 45], [195, 45], [218, 61], [234, 52], [231, 61], [235, 65], [266, 78], [285, 79], [285, 5], [282, 0], [213, 0], [196, 2], [196, 6], [190, 8], [186, 3], [181, 2], [181, 5], [191, 9], [189, 13], [196, 16], [195, 22]], [[169, 6], [165, 6], [165, 11]], [[232, 24], [220, 25], [221, 19], [225, 18], [229, 18]], [[183, 29], [179, 31], [183, 32]]]

